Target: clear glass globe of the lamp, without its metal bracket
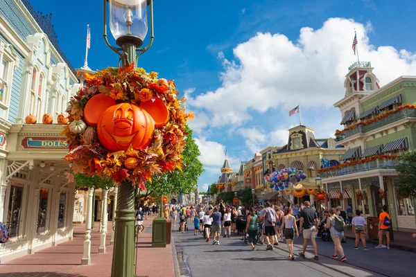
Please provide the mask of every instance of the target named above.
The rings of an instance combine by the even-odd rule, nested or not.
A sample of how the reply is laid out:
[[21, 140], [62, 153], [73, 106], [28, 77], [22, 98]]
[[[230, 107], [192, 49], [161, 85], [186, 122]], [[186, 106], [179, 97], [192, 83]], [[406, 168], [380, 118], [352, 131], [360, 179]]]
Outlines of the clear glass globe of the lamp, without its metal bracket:
[[116, 43], [140, 47], [148, 31], [147, 0], [108, 0], [110, 30]]

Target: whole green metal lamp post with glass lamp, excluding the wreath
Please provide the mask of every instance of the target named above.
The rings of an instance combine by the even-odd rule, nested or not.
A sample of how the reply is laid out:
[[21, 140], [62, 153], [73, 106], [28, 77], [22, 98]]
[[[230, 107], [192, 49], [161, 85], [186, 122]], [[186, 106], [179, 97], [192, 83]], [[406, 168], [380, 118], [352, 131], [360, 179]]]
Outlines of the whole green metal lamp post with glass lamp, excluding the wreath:
[[[107, 39], [107, 3], [110, 30], [116, 39]], [[150, 41], [140, 48], [148, 32], [147, 7], [150, 6]], [[103, 37], [107, 46], [119, 55], [123, 66], [137, 64], [140, 55], [153, 44], [153, 0], [103, 0]], [[112, 277], [135, 276], [135, 184], [123, 181], [116, 200]]]

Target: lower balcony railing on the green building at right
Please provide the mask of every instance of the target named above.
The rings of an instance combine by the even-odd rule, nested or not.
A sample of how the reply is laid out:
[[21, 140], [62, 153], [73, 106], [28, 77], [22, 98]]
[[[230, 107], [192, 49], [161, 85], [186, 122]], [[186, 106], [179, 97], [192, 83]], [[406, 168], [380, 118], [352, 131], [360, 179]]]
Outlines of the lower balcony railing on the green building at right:
[[360, 163], [352, 166], [347, 166], [345, 168], [338, 168], [334, 170], [320, 172], [319, 176], [322, 179], [324, 179], [376, 169], [394, 169], [395, 166], [397, 166], [398, 162], [399, 161], [397, 161], [396, 159], [377, 159], [374, 161], [369, 161], [367, 163]]

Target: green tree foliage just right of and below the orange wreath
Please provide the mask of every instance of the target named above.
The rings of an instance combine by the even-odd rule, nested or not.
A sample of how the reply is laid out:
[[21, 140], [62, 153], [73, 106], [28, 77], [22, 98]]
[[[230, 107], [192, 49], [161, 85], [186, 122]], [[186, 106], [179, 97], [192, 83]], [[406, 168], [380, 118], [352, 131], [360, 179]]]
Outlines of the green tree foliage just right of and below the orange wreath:
[[146, 183], [146, 193], [144, 196], [167, 195], [168, 193], [191, 193], [196, 188], [196, 184], [204, 168], [198, 160], [200, 150], [192, 137], [192, 130], [185, 127], [187, 132], [187, 145], [182, 152], [184, 165], [181, 170], [174, 170], [165, 175], [154, 177], [152, 182]]

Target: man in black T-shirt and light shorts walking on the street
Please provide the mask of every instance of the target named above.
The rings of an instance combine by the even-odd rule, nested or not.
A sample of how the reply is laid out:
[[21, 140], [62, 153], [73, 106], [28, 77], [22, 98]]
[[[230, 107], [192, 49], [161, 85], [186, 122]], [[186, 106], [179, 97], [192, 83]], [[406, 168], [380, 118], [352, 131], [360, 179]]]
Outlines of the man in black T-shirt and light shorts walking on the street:
[[315, 235], [318, 230], [318, 217], [315, 211], [311, 209], [311, 203], [309, 201], [304, 202], [304, 208], [300, 212], [300, 233], [303, 233], [304, 244], [302, 252], [299, 252], [299, 256], [306, 258], [305, 251], [308, 246], [309, 240], [312, 241], [313, 250], [315, 251], [315, 260], [319, 260], [318, 257], [318, 245], [316, 244]]

